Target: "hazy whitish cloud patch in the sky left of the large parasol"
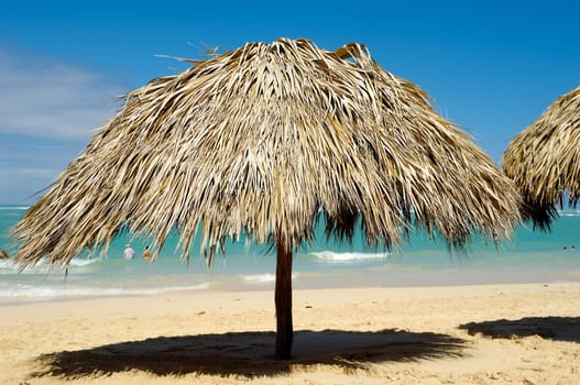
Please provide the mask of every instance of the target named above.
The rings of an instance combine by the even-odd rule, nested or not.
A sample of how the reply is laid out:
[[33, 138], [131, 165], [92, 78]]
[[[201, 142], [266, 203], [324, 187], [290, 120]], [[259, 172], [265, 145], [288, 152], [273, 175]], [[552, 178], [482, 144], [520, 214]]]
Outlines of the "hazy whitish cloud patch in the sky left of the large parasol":
[[85, 141], [114, 114], [120, 94], [95, 72], [0, 50], [0, 133]]

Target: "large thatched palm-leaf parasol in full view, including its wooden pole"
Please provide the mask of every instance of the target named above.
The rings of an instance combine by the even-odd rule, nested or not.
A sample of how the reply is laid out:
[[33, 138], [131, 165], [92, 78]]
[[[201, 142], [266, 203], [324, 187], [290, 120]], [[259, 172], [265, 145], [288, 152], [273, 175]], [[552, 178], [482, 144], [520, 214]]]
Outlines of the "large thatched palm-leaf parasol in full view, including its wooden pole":
[[[191, 61], [193, 62], [193, 61]], [[201, 224], [209, 262], [225, 239], [272, 242], [276, 356], [292, 346], [293, 252], [326, 219], [351, 239], [398, 244], [412, 226], [463, 248], [473, 232], [508, 237], [518, 219], [510, 179], [427, 95], [359, 44], [251, 43], [127, 95], [15, 228], [23, 265], [67, 264], [122, 229], [172, 229], [184, 255]]]

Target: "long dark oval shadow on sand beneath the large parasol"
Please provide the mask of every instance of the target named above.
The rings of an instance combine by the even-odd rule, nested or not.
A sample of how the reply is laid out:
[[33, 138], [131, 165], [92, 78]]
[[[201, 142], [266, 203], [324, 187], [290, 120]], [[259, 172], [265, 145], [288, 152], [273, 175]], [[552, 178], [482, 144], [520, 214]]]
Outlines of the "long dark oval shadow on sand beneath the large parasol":
[[78, 378], [140, 370], [160, 376], [254, 377], [288, 373], [296, 365], [339, 365], [349, 371], [375, 362], [459, 358], [467, 346], [462, 339], [430, 332], [303, 330], [294, 333], [293, 359], [277, 361], [274, 341], [273, 332], [158, 337], [44, 354], [36, 359], [40, 370], [32, 376]]

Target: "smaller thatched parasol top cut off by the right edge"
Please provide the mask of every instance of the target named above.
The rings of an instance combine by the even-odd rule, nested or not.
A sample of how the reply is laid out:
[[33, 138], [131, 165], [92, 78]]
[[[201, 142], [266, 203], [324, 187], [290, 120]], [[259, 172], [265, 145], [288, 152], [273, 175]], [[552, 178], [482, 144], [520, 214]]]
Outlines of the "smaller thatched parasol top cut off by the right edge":
[[524, 219], [549, 228], [565, 200], [580, 197], [580, 87], [561, 96], [510, 142], [505, 174], [522, 193]]

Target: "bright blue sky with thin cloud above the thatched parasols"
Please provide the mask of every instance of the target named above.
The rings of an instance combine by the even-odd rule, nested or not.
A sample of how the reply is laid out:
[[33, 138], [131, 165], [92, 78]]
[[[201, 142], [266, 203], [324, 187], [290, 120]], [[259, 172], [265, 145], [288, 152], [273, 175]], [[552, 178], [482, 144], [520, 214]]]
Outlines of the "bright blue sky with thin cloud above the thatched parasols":
[[580, 85], [569, 1], [3, 1], [0, 204], [30, 204], [119, 107], [117, 96], [204, 47], [307, 37], [368, 46], [500, 162], [507, 142]]

